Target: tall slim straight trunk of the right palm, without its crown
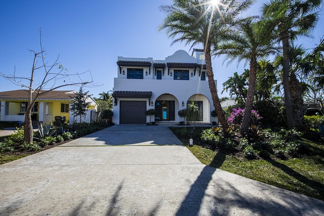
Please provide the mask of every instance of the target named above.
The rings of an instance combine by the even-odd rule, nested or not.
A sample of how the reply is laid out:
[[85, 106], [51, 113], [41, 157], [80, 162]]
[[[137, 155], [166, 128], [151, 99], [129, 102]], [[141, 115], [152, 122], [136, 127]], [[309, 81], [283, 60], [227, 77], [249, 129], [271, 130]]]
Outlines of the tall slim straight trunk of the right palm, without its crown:
[[284, 60], [282, 61], [282, 83], [284, 84], [285, 91], [285, 106], [286, 106], [286, 116], [288, 127], [292, 128], [296, 126], [294, 110], [292, 105], [292, 98], [290, 93], [289, 85], [289, 72], [290, 72], [290, 58], [289, 58], [289, 38], [288, 36], [282, 39], [282, 50], [284, 55]]

